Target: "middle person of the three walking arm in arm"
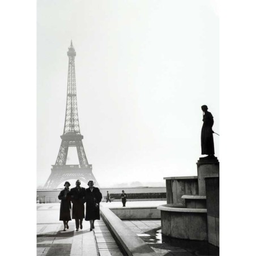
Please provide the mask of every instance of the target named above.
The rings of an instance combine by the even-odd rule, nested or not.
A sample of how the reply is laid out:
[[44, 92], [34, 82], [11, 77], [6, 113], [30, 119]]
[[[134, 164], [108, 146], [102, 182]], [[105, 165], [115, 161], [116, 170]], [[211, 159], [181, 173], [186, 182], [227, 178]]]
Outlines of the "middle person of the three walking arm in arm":
[[83, 218], [84, 218], [84, 203], [86, 202], [86, 189], [80, 187], [81, 182], [77, 180], [75, 187], [70, 190], [71, 202], [72, 202], [72, 219], [75, 219], [76, 231], [83, 229]]

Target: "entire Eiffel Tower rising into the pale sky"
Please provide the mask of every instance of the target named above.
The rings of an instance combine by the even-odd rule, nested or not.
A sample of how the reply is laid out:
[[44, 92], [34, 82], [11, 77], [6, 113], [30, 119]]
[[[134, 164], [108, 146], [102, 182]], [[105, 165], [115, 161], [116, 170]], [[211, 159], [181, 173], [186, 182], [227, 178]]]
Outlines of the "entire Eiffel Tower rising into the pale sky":
[[[88, 182], [97, 181], [92, 173], [92, 165], [88, 164], [86, 153], [83, 147], [83, 135], [80, 134], [78, 121], [78, 106], [76, 102], [76, 83], [75, 83], [75, 56], [74, 46], [69, 47], [69, 74], [67, 79], [67, 103], [66, 116], [63, 135], [61, 135], [61, 147], [57, 156], [56, 163], [52, 165], [50, 177], [44, 185], [44, 189], [57, 189], [63, 181], [80, 180]], [[78, 152], [79, 165], [66, 165], [67, 152], [69, 147], [76, 147]], [[99, 184], [97, 184], [99, 187]]]

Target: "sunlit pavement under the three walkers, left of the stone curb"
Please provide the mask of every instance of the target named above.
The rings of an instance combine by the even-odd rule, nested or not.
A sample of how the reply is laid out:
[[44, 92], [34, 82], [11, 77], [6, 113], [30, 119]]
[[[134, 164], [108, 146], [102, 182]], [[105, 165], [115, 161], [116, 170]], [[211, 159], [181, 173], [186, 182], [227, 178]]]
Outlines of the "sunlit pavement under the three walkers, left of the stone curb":
[[63, 231], [59, 221], [59, 203], [37, 204], [37, 255], [123, 255], [104, 221], [95, 221], [95, 229], [89, 231], [89, 221], [83, 221], [83, 229], [75, 231], [75, 221]]

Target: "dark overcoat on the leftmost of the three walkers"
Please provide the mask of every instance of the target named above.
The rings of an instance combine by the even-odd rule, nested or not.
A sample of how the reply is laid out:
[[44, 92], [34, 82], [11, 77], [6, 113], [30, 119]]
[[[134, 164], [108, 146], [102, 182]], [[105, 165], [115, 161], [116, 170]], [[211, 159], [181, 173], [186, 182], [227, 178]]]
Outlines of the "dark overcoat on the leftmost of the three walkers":
[[58, 199], [61, 200], [61, 208], [59, 209], [59, 220], [71, 220], [71, 202], [69, 193], [69, 189], [63, 189], [58, 195]]

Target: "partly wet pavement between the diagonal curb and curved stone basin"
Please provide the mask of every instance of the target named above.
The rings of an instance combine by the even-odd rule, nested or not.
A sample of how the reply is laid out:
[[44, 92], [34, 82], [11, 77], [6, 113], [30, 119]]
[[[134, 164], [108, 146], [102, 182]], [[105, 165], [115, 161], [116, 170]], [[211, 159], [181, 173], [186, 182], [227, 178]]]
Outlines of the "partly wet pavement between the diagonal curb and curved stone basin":
[[219, 248], [207, 241], [169, 238], [161, 234], [161, 220], [123, 220], [153, 250], [162, 255], [219, 255]]

